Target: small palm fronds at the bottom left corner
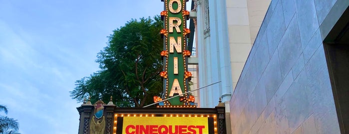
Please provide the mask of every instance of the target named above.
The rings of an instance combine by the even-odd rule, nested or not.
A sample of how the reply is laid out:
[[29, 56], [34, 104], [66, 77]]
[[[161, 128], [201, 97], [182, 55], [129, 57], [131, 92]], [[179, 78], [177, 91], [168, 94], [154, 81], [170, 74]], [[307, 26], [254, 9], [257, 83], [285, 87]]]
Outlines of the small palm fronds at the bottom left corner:
[[[4, 111], [7, 114], [7, 107], [0, 104], [0, 111]], [[17, 134], [19, 130], [19, 124], [16, 119], [9, 118], [7, 116], [0, 115], [0, 133], [3, 134]]]

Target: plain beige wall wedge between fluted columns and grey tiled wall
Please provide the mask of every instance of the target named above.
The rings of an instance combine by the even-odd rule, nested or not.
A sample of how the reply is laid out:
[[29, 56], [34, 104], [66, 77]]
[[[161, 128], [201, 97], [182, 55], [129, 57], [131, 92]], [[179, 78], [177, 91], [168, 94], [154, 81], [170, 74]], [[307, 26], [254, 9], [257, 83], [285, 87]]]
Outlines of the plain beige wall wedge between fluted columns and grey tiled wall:
[[234, 91], [271, 0], [226, 0]]

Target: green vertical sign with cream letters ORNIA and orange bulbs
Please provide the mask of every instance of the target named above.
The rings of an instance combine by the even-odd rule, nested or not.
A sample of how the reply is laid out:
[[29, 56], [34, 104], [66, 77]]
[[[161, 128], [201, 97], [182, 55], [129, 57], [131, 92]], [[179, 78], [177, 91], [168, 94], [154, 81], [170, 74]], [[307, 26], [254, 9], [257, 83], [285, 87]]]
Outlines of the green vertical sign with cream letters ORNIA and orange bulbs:
[[[187, 36], [190, 29], [186, 28], [186, 20], [189, 17], [189, 11], [185, 10], [187, 0], [163, 0], [165, 10], [161, 12], [164, 20], [164, 28], [160, 33], [165, 39], [164, 50], [160, 55], [164, 57], [164, 70], [160, 76], [164, 78], [164, 96], [170, 98], [164, 103], [159, 103], [158, 107], [169, 107], [172, 105], [191, 105], [194, 107], [194, 96], [183, 94], [173, 97], [176, 94], [182, 94], [188, 91], [188, 78], [192, 76], [187, 71], [187, 58], [190, 51], [187, 50]], [[154, 96], [154, 102], [162, 100]]]

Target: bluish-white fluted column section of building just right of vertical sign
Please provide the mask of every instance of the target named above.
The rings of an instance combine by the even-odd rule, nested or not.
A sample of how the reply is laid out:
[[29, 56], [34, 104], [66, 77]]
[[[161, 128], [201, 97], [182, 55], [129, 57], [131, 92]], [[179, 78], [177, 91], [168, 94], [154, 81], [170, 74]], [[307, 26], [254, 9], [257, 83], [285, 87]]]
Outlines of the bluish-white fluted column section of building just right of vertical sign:
[[231, 92], [231, 75], [225, 75], [231, 74], [230, 59], [220, 58], [229, 55], [226, 11], [217, 8], [225, 0], [197, 0], [196, 5], [199, 87], [221, 81], [200, 90], [200, 107], [214, 107], [222, 94]]

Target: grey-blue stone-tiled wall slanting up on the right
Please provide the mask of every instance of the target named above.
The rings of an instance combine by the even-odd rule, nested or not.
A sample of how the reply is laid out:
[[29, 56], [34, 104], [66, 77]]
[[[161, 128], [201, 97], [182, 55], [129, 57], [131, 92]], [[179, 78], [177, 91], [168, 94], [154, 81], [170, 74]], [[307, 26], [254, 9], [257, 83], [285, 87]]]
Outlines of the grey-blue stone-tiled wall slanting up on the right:
[[272, 0], [230, 100], [232, 133], [340, 133], [323, 39], [343, 4]]

